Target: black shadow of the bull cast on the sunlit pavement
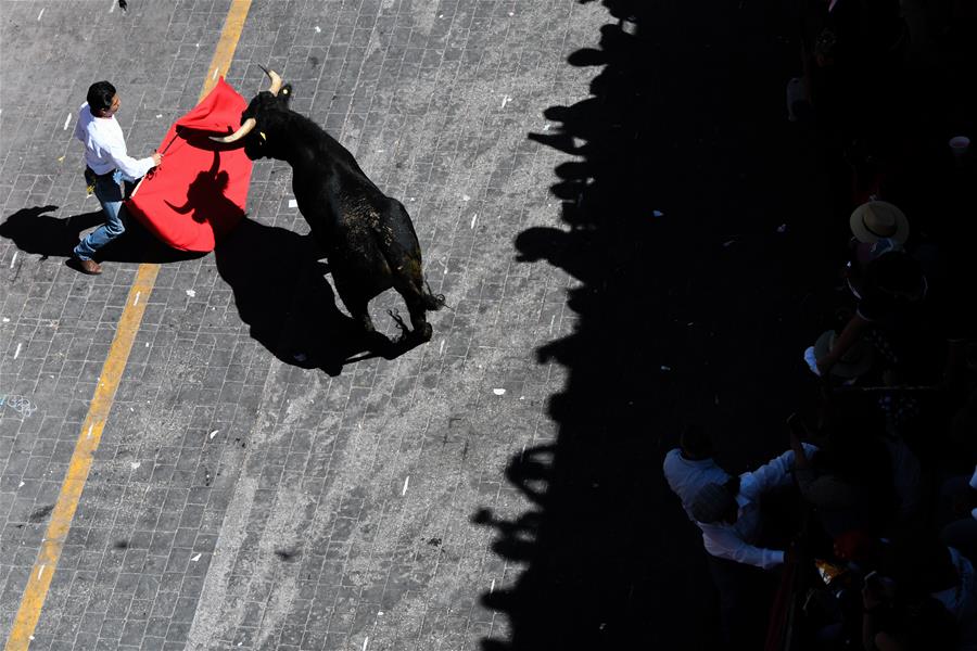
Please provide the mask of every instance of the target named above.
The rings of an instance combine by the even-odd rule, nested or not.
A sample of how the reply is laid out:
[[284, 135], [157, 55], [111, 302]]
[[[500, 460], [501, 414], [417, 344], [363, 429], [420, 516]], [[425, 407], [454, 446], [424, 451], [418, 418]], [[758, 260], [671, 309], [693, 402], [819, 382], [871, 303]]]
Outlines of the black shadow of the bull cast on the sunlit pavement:
[[340, 311], [310, 235], [245, 218], [214, 255], [251, 336], [286, 363], [338, 375], [346, 363], [409, 349], [365, 335]]

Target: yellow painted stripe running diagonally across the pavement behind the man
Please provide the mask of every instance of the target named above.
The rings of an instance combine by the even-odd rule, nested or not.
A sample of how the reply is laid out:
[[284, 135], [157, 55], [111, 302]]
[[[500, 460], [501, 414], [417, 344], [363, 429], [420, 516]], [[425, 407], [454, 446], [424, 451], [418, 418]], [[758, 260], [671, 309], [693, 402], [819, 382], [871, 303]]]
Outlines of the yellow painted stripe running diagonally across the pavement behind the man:
[[[207, 78], [204, 80], [203, 90], [200, 93], [201, 100], [211, 92], [214, 85], [217, 84], [217, 78], [227, 74], [250, 9], [251, 0], [232, 1], [220, 33], [220, 40], [214, 52], [214, 59], [211, 61]], [[61, 485], [61, 493], [58, 495], [58, 501], [51, 512], [51, 520], [45, 532], [37, 561], [27, 578], [27, 586], [21, 598], [21, 607], [10, 630], [10, 637], [7, 638], [5, 651], [26, 651], [34, 638], [34, 629], [40, 618], [51, 579], [54, 577], [54, 571], [64, 548], [64, 541], [72, 527], [72, 519], [78, 508], [85, 482], [88, 481], [88, 471], [91, 469], [94, 452], [102, 438], [102, 431], [105, 427], [105, 421], [109, 420], [115, 392], [122, 381], [129, 352], [132, 349], [132, 342], [136, 340], [136, 333], [139, 332], [142, 315], [149, 303], [150, 294], [153, 292], [158, 272], [160, 265], [140, 265], [136, 272], [136, 280], [129, 289], [126, 307], [123, 309], [115, 330], [115, 339], [112, 340], [112, 345], [109, 347], [109, 356], [102, 366], [102, 373], [88, 408], [88, 414], [81, 424], [81, 433], [75, 444], [67, 475]]]

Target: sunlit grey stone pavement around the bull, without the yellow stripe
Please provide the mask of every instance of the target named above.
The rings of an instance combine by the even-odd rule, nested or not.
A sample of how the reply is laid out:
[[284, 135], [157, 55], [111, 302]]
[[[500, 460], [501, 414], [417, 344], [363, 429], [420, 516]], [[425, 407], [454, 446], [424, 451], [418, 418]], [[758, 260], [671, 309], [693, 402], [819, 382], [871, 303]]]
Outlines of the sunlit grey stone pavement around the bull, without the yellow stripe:
[[[149, 152], [195, 104], [230, 2], [128, 4], [0, 2], [0, 216], [27, 224], [20, 241], [0, 238], [4, 638], [139, 261], [106, 254], [98, 278], [64, 265], [99, 209], [72, 140], [78, 105], [90, 82], [113, 80], [129, 150]], [[504, 468], [553, 441], [545, 400], [564, 379], [534, 350], [574, 327], [575, 281], [515, 259], [519, 231], [559, 224], [547, 188], [568, 158], [525, 136], [547, 129], [547, 106], [587, 95], [592, 71], [566, 58], [610, 21], [570, 0], [254, 1], [228, 81], [250, 98], [265, 64], [294, 85], [293, 107], [404, 201], [451, 309], [429, 344], [330, 375], [267, 345], [312, 327], [303, 306], [322, 292], [303, 263], [245, 252], [255, 277], [295, 279], [280, 291], [300, 316], [265, 337], [245, 317], [280, 304], [228, 282], [219, 252], [164, 263], [31, 649], [506, 638], [480, 598], [520, 566], [472, 516], [526, 509]], [[307, 233], [290, 192], [284, 164], [257, 163], [250, 217]], [[384, 295], [372, 311], [393, 334], [390, 307], [403, 310]]]

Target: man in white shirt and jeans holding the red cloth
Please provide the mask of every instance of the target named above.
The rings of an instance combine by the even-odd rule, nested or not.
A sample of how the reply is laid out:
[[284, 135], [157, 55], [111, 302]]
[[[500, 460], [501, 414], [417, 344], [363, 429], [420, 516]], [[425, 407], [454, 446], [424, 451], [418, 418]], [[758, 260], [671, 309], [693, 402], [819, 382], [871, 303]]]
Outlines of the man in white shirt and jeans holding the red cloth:
[[138, 159], [129, 155], [122, 127], [115, 119], [120, 102], [112, 84], [92, 84], [86, 100], [78, 112], [75, 138], [85, 145], [85, 179], [102, 204], [105, 224], [88, 233], [75, 247], [72, 257], [83, 273], [97, 276], [102, 272], [102, 267], [92, 256], [125, 232], [123, 201], [137, 180], [160, 165], [163, 154], [153, 152]]

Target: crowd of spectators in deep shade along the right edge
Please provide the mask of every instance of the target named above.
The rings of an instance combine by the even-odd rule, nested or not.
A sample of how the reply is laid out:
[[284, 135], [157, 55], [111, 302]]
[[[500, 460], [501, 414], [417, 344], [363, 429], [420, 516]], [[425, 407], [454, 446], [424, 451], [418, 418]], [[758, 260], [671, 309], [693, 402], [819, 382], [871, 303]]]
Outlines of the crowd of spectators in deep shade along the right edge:
[[[949, 148], [905, 163], [914, 143], [948, 135], [898, 105], [911, 46], [903, 4], [805, 7], [790, 117], [821, 136], [850, 186], [826, 216], [843, 227], [826, 252], [837, 261], [823, 279], [829, 327], [802, 353], [816, 395], [785, 422], [789, 449], [734, 475], [689, 425], [664, 459], [736, 648], [977, 649], [973, 242], [915, 200], [942, 192], [927, 187], [937, 176], [965, 182], [974, 164]], [[957, 5], [968, 7], [948, 11]], [[921, 166], [929, 174], [906, 171]], [[947, 196], [928, 205], [974, 219]]]

